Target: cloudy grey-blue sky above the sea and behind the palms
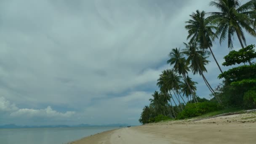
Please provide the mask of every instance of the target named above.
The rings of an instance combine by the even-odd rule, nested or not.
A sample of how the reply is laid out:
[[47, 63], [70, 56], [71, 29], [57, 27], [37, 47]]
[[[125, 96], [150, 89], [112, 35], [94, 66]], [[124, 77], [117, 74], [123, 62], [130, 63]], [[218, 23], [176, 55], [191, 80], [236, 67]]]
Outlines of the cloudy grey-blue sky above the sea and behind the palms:
[[[0, 125], [139, 125], [171, 68], [168, 53], [187, 42], [185, 21], [197, 9], [217, 11], [209, 2], [1, 0]], [[220, 64], [230, 51], [218, 40], [212, 49]], [[205, 77], [216, 88], [220, 71], [209, 60]], [[190, 76], [197, 95], [211, 99], [202, 77]]]

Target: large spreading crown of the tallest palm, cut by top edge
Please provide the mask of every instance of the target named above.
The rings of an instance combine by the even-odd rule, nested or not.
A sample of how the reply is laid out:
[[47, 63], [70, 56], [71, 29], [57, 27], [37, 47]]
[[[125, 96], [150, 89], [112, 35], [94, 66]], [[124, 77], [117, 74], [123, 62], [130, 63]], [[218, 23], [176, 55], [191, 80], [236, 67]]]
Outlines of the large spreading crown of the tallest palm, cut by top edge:
[[[208, 17], [213, 24], [217, 24], [218, 29], [216, 35], [220, 36], [220, 44], [228, 38], [228, 47], [233, 48], [232, 37], [237, 34], [238, 40], [242, 48], [246, 45], [243, 29], [250, 35], [256, 37], [256, 31], [251, 27], [254, 20], [249, 16], [255, 0], [251, 0], [243, 5], [240, 0], [214, 0], [210, 2], [210, 6], [215, 6], [220, 12], [211, 12]], [[251, 64], [251, 62], [249, 62]]]

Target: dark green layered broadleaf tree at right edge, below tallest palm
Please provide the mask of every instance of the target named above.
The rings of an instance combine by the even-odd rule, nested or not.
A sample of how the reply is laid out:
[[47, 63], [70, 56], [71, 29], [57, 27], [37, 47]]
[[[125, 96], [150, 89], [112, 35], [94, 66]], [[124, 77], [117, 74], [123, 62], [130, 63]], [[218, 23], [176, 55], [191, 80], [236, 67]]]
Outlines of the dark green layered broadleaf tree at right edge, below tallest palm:
[[[249, 45], [239, 51], [231, 51], [224, 57], [223, 65], [245, 63], [256, 58], [254, 47], [255, 45]], [[234, 67], [223, 72], [219, 78], [225, 78], [225, 80], [216, 89], [216, 94], [226, 107], [252, 107], [252, 96], [245, 93], [256, 87], [256, 64]]]

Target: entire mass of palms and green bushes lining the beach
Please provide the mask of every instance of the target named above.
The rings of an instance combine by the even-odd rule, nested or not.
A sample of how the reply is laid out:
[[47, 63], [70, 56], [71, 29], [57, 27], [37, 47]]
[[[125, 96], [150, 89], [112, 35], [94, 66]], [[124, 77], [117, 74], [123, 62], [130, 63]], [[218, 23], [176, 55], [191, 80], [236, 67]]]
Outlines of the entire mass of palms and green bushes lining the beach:
[[[183, 49], [173, 48], [169, 53], [167, 62], [171, 67], [160, 74], [159, 91], [152, 94], [149, 106], [144, 107], [140, 123], [184, 119], [230, 107], [256, 108], [256, 64], [252, 62], [256, 58], [255, 45], [246, 46], [244, 34], [245, 31], [256, 37], [256, 0], [244, 4], [240, 0], [214, 0], [210, 5], [219, 11], [197, 10], [189, 15], [191, 19], [185, 26], [188, 43], [184, 43]], [[212, 42], [219, 39], [221, 44], [227, 39], [227, 47], [233, 48], [235, 34], [241, 49], [230, 51], [224, 57], [222, 65], [233, 67], [223, 72], [211, 49]], [[223, 79], [216, 89], [204, 75], [210, 54], [219, 68], [218, 78]], [[203, 78], [213, 99], [209, 101], [197, 96], [197, 82], [189, 72]]]

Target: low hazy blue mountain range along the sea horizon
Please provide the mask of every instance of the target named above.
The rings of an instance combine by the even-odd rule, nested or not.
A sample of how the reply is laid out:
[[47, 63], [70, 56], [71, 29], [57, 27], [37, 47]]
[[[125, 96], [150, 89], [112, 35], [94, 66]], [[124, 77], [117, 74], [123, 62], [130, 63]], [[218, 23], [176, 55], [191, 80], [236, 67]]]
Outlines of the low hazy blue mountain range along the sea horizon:
[[119, 127], [122, 125], [123, 127], [128, 126], [128, 124], [108, 124], [108, 125], [88, 125], [88, 124], [80, 124], [80, 125], [15, 125], [15, 124], [9, 124], [9, 125], [0, 125], [0, 128], [83, 128], [83, 127]]

